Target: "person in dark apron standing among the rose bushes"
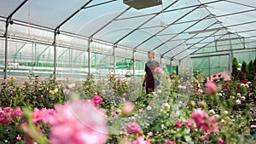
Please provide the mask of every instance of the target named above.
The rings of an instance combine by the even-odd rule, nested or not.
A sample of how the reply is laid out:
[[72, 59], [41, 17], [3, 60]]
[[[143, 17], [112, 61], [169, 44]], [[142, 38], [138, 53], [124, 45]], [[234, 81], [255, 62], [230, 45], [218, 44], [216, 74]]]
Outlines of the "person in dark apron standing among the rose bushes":
[[146, 94], [154, 91], [155, 79], [154, 79], [154, 69], [160, 66], [159, 63], [154, 60], [154, 51], [148, 51], [148, 62], [145, 64], [145, 77], [143, 81], [143, 87], [146, 84]]

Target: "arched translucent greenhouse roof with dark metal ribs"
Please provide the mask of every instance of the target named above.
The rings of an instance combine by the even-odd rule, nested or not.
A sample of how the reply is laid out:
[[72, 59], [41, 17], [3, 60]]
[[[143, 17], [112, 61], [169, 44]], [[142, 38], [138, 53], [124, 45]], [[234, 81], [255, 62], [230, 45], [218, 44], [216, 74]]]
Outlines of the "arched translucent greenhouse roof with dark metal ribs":
[[[1, 0], [0, 32], [4, 36], [6, 21], [13, 20], [9, 33], [20, 39], [52, 42], [60, 32], [182, 60], [230, 34], [254, 40], [255, 10], [251, 0], [165, 0], [146, 9], [122, 0]], [[59, 43], [85, 43], [57, 38]]]

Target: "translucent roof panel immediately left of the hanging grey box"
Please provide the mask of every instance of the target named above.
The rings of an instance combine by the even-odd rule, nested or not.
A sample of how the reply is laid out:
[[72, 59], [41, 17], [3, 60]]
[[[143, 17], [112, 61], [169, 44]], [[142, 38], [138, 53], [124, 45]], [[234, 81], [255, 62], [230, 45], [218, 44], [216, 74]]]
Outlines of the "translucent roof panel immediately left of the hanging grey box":
[[[112, 5], [116, 5], [112, 7]], [[113, 8], [111, 10], [109, 7]], [[125, 11], [123, 3], [109, 2], [96, 3], [92, 2], [84, 9], [81, 9], [78, 14], [75, 14], [72, 19], [68, 20], [61, 30], [67, 32], [75, 32], [79, 35], [90, 37], [100, 31], [102, 27], [108, 25], [116, 16]]]

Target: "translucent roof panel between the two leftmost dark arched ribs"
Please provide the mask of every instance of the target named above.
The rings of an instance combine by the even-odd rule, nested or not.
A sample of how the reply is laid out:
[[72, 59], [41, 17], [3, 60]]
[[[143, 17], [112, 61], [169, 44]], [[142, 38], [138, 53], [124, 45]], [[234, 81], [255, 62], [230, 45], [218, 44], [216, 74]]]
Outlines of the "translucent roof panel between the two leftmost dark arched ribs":
[[[69, 15], [72, 15], [84, 3], [84, 0], [29, 0], [19, 9], [14, 15], [15, 20], [26, 21], [38, 26], [46, 26], [55, 28], [59, 26], [62, 21], [66, 20]], [[57, 15], [57, 16], [56, 16]]]

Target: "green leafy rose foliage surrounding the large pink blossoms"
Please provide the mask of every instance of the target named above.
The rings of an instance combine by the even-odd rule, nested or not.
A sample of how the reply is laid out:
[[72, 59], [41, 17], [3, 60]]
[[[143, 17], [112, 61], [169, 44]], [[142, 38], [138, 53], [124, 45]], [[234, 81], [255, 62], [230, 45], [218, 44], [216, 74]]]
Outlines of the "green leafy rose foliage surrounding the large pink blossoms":
[[[239, 66], [237, 60], [234, 59], [234, 61], [234, 67], [237, 70]], [[73, 84], [66, 88], [79, 92], [82, 99], [91, 100], [94, 95], [102, 97], [100, 108], [104, 109], [108, 116], [109, 144], [119, 143], [124, 137], [133, 141], [139, 135], [150, 140], [151, 143], [164, 143], [166, 140], [183, 144], [216, 143], [219, 138], [224, 140], [224, 143], [250, 143], [255, 140], [249, 134], [249, 119], [256, 114], [255, 111], [252, 111], [251, 105], [252, 101], [255, 101], [253, 87], [255, 81], [247, 83], [247, 78], [243, 78], [241, 74], [236, 71], [238, 78], [233, 78], [233, 80], [218, 78], [215, 83], [218, 86], [218, 93], [214, 95], [205, 94], [207, 88], [204, 85], [205, 78], [201, 72], [194, 72], [193, 81], [189, 81], [188, 73], [184, 77], [181, 75], [170, 76], [165, 72], [159, 73], [157, 77], [160, 78], [160, 86], [150, 95], [145, 94], [145, 89], [142, 86], [143, 79], [116, 78], [114, 74], [109, 74], [107, 79], [97, 80], [91, 75], [83, 84]], [[65, 86], [58, 84], [53, 78], [32, 77], [29, 82], [21, 86], [15, 84], [15, 79], [11, 78], [7, 84], [1, 86], [1, 99], [3, 100], [1, 106], [6, 104], [4, 107], [50, 108], [55, 103], [66, 101], [64, 98], [68, 96], [63, 94]], [[21, 99], [18, 99], [20, 95]], [[34, 98], [34, 96], [37, 97]], [[52, 96], [54, 99], [51, 99]], [[12, 99], [7, 99], [9, 97]], [[121, 112], [125, 101], [132, 101], [135, 105], [134, 111], [129, 117], [122, 115]], [[200, 104], [201, 101], [203, 106]], [[210, 117], [216, 119], [217, 131], [206, 132], [199, 127], [189, 128], [184, 124], [197, 108], [201, 108]], [[116, 115], [114, 116], [113, 113]], [[126, 124], [133, 122], [139, 124], [142, 130], [137, 135], [125, 134]], [[177, 126], [177, 122], [182, 125]], [[47, 126], [44, 124], [40, 126], [47, 130]], [[5, 129], [13, 129], [14, 135], [20, 133], [15, 125], [2, 125], [0, 139], [4, 137], [3, 140], [17, 142], [14, 135], [3, 134]], [[124, 132], [124, 135], [120, 135], [121, 131]], [[148, 135], [150, 132], [153, 135]], [[45, 133], [45, 135], [47, 134]]]

